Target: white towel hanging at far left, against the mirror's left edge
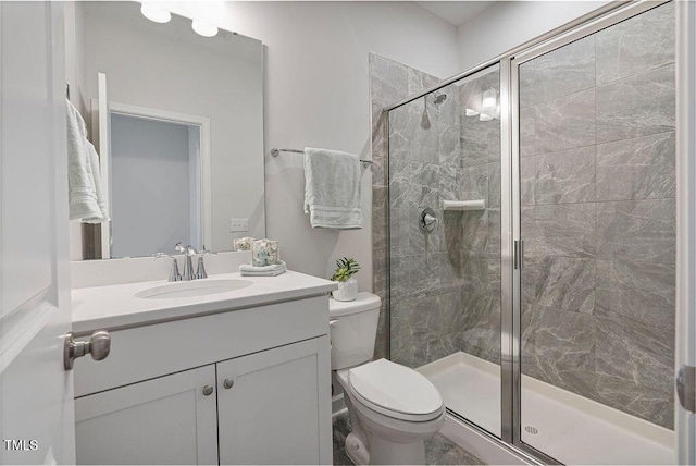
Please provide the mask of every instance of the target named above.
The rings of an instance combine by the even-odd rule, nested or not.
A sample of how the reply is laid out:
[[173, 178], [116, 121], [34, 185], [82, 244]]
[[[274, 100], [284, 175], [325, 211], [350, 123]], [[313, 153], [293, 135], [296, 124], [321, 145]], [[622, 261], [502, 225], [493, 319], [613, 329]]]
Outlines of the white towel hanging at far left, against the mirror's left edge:
[[70, 187], [70, 219], [85, 223], [109, 221], [109, 212], [101, 193], [99, 156], [87, 140], [87, 125], [70, 100], [67, 103], [67, 182]]

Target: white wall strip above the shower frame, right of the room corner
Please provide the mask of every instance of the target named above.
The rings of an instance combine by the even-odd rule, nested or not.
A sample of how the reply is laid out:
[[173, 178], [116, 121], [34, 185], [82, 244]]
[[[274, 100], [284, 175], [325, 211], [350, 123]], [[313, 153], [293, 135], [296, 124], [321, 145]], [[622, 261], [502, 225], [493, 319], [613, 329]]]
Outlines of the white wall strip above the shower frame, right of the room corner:
[[587, 14], [609, 1], [496, 1], [459, 26], [459, 68], [467, 71]]

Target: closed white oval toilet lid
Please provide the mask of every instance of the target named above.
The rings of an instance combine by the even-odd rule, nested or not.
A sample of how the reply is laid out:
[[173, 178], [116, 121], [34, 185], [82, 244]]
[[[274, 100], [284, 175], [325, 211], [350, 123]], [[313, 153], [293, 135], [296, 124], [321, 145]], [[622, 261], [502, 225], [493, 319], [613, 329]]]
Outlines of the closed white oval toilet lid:
[[350, 369], [348, 382], [368, 407], [390, 417], [413, 419], [415, 416], [430, 420], [443, 407], [443, 397], [430, 380], [387, 359]]

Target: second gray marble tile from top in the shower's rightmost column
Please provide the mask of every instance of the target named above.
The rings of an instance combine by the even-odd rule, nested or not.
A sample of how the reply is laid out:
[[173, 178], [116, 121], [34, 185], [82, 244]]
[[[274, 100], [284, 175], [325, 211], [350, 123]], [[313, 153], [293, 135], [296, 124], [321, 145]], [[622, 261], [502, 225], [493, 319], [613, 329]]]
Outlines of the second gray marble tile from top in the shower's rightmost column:
[[674, 65], [597, 87], [597, 143], [674, 131]]

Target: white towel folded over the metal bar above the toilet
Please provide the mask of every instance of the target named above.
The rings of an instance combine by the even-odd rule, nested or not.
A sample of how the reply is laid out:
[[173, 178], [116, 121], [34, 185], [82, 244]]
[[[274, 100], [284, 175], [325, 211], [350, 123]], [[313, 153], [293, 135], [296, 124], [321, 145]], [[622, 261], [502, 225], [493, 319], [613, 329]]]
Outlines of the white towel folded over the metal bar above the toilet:
[[358, 156], [304, 149], [304, 213], [314, 229], [362, 228]]

